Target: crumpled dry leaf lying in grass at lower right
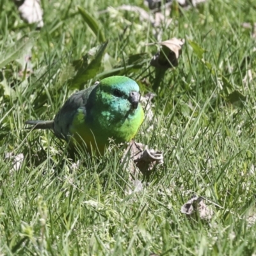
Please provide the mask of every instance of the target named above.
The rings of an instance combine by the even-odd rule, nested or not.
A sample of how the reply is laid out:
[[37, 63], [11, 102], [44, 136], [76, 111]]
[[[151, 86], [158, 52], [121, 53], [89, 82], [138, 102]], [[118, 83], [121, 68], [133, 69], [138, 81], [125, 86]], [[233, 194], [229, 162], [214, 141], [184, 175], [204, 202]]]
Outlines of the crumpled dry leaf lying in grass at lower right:
[[186, 204], [182, 205], [181, 212], [187, 216], [198, 215], [201, 220], [211, 220], [213, 211], [204, 203], [204, 199], [200, 196], [193, 195]]

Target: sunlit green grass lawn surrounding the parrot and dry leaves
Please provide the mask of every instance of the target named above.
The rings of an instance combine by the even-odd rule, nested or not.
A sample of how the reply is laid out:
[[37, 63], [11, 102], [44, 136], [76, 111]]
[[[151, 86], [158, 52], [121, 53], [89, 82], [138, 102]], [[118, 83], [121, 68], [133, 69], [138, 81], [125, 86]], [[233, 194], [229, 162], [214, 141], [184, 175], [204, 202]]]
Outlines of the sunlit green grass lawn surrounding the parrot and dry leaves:
[[[163, 25], [163, 40], [186, 43], [178, 67], [166, 72], [155, 92], [153, 120], [136, 136], [164, 152], [163, 166], [140, 193], [125, 193], [129, 175], [118, 148], [100, 159], [81, 154], [79, 168], [72, 168], [65, 145], [51, 132], [24, 129], [26, 120], [54, 116], [74, 92], [66, 79], [72, 60], [100, 45], [77, 5], [109, 39], [99, 76], [84, 86], [121, 68], [116, 72], [136, 79], [142, 93], [152, 92], [149, 63], [157, 49], [147, 44], [156, 42], [154, 28], [138, 13], [117, 10], [120, 4], [43, 0], [45, 26], [33, 42], [31, 63], [19, 56], [0, 69], [1, 255], [253, 255], [256, 227], [248, 217], [256, 212], [255, 0], [180, 8], [172, 11], [172, 24]], [[145, 8], [136, 0], [122, 4]], [[35, 26], [20, 20], [12, 1], [0, 6], [5, 52]], [[108, 6], [109, 12], [100, 12]], [[138, 65], [127, 68], [128, 57], [143, 52]], [[19, 76], [28, 65], [33, 74]], [[252, 81], [244, 79], [249, 69]], [[8, 152], [23, 154], [19, 170]], [[180, 212], [194, 194], [207, 199], [214, 211], [210, 221]]]

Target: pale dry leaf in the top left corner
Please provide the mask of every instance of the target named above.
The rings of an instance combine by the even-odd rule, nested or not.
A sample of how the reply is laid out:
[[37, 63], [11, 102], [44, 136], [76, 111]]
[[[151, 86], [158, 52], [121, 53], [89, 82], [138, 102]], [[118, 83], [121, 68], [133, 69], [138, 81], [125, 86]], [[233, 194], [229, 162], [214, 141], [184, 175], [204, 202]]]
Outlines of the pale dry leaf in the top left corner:
[[40, 6], [40, 0], [15, 0], [18, 6], [21, 19], [29, 24], [36, 23], [37, 28], [44, 26], [43, 10]]

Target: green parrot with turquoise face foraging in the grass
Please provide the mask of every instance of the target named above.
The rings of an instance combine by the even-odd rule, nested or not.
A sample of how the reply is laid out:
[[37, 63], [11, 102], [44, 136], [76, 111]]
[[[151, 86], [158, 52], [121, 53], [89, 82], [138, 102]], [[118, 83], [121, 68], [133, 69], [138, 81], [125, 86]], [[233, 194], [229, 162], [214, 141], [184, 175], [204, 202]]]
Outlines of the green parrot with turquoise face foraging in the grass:
[[26, 124], [52, 129], [58, 138], [71, 139], [71, 145], [74, 140], [85, 142], [88, 152], [94, 148], [102, 154], [109, 138], [116, 143], [131, 141], [143, 120], [138, 84], [125, 76], [112, 76], [70, 96], [54, 120]]

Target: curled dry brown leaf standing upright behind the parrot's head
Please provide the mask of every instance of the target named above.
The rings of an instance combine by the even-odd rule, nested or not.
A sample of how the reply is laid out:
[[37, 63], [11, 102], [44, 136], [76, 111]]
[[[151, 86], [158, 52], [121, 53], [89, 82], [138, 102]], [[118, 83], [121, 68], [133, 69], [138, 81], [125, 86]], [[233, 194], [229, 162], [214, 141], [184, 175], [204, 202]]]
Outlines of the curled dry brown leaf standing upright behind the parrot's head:
[[[178, 65], [178, 59], [182, 53], [182, 45], [184, 39], [172, 38], [163, 42], [157, 43], [161, 45], [162, 51], [157, 52], [150, 61], [153, 67], [170, 68]], [[155, 44], [148, 44], [155, 45]]]

